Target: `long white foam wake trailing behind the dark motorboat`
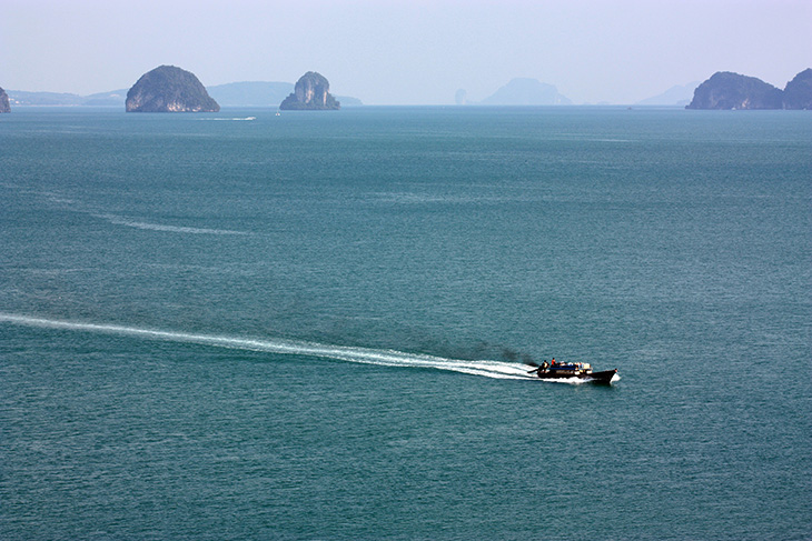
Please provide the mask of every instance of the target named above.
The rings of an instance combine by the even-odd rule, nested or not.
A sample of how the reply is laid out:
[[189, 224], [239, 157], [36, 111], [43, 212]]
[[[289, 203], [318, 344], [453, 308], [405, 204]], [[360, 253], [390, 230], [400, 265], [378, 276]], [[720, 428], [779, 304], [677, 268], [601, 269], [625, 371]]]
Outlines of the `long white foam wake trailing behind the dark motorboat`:
[[31, 318], [0, 312], [0, 321], [31, 327], [68, 329], [86, 332], [102, 332], [130, 337], [143, 337], [152, 340], [199, 343], [220, 348], [232, 348], [247, 351], [265, 351], [269, 353], [295, 354], [335, 359], [348, 362], [378, 364], [385, 367], [433, 368], [494, 379], [536, 380], [527, 373], [523, 364], [501, 361], [464, 361], [443, 357], [405, 353], [395, 350], [374, 350], [344, 345], [329, 345], [285, 339], [254, 340], [245, 338], [221, 337], [214, 334], [194, 334], [187, 332], [159, 331], [123, 327], [115, 324], [78, 323], [72, 321]]

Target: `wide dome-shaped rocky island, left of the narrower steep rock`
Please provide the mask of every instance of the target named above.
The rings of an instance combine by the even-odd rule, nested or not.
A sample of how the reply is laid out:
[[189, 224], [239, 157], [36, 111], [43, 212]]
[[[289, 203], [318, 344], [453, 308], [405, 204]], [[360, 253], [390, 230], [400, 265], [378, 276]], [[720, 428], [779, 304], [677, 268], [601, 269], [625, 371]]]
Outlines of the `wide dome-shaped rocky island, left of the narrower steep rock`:
[[220, 106], [198, 78], [175, 66], [148, 71], [127, 92], [127, 112], [217, 112]]

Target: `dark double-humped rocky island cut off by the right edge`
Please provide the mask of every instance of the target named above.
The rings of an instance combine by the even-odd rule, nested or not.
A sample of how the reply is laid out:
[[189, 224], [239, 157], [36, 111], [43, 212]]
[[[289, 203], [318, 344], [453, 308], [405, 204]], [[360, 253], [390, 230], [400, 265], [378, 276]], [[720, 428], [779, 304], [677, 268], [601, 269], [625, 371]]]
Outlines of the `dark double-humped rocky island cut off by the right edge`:
[[755, 77], [719, 71], [696, 87], [685, 109], [810, 109], [812, 69], [795, 76], [782, 91]]

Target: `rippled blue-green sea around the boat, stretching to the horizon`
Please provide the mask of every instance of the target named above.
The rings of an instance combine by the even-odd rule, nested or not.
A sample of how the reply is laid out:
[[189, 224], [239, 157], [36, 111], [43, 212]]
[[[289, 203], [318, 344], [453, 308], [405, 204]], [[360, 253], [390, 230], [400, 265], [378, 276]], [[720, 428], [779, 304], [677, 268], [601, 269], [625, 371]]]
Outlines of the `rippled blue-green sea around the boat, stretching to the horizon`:
[[810, 540], [811, 292], [809, 111], [20, 107], [0, 539]]

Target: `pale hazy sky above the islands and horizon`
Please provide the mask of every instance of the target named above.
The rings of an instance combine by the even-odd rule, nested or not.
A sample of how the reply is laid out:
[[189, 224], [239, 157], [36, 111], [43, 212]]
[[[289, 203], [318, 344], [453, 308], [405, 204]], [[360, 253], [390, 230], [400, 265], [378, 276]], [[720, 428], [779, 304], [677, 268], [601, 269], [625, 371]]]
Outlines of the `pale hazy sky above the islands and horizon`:
[[515, 77], [633, 103], [715, 71], [812, 67], [812, 0], [0, 0], [0, 87], [89, 94], [174, 64], [206, 86], [306, 71], [368, 104], [481, 100]]

